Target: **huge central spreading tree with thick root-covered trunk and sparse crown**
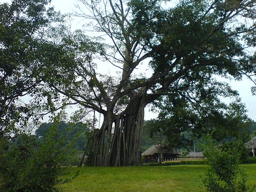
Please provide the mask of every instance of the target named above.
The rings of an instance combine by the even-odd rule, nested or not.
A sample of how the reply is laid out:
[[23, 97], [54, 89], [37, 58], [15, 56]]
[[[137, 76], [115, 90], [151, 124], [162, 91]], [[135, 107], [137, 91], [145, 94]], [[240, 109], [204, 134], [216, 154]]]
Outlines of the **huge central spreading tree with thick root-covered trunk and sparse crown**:
[[[168, 104], [175, 110], [185, 98], [199, 103], [200, 110], [216, 107], [205, 111], [215, 116], [222, 107], [216, 95], [236, 94], [217, 76], [253, 78], [255, 55], [246, 49], [255, 46], [254, 0], [80, 3], [77, 15], [94, 33], [71, 32], [65, 25], [48, 31], [40, 45], [51, 51], [39, 52], [44, 55], [33, 63], [43, 82], [35, 101], [49, 101], [50, 111], [78, 104], [102, 114], [91, 140], [93, 165], [141, 163], [147, 104], [173, 99]], [[115, 75], [99, 73], [97, 66], [107, 65], [115, 67]]]

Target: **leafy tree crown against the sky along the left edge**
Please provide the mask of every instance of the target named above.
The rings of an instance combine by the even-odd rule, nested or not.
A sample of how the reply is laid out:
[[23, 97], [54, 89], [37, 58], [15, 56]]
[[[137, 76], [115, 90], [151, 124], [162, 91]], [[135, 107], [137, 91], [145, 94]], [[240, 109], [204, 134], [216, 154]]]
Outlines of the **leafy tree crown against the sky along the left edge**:
[[46, 59], [44, 34], [56, 16], [52, 8], [47, 9], [49, 2], [14, 0], [10, 5], [0, 4], [1, 137], [11, 135], [15, 123], [26, 125], [32, 115], [30, 106], [20, 98], [31, 95], [40, 83], [35, 77], [35, 63]]

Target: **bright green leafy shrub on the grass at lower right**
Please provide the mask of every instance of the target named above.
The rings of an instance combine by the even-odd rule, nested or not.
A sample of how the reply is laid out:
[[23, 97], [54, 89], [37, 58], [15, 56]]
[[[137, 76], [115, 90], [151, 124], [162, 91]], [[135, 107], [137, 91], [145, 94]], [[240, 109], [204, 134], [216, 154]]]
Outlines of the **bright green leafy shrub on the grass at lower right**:
[[246, 174], [239, 166], [244, 145], [228, 142], [222, 145], [207, 140], [204, 156], [210, 166], [203, 180], [208, 191], [254, 191], [249, 187]]

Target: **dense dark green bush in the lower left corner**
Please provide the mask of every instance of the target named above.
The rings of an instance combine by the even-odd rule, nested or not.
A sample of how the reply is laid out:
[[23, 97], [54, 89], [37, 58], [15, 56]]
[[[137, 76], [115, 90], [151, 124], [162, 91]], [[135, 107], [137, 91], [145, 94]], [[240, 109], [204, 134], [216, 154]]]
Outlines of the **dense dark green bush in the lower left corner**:
[[69, 150], [63, 147], [65, 138], [57, 137], [56, 126], [52, 126], [41, 140], [20, 134], [6, 141], [5, 146], [1, 142], [1, 191], [59, 191], [60, 163]]

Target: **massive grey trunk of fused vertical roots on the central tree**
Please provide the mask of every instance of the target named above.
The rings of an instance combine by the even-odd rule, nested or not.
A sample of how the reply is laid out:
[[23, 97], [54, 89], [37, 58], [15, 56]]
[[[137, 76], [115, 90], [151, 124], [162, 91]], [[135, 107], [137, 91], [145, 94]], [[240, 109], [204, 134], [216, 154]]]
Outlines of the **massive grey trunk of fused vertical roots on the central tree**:
[[144, 108], [144, 97], [136, 95], [122, 113], [108, 111], [104, 115], [101, 129], [93, 140], [92, 165], [141, 165]]

